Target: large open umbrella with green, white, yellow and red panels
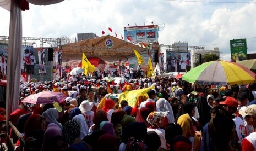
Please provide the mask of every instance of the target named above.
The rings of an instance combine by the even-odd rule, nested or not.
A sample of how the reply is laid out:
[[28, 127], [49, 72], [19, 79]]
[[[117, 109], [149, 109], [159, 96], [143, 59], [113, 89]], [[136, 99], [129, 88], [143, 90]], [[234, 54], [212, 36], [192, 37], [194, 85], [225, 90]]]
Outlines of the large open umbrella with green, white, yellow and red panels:
[[182, 75], [182, 80], [198, 84], [246, 85], [255, 82], [256, 74], [235, 62], [210, 61]]

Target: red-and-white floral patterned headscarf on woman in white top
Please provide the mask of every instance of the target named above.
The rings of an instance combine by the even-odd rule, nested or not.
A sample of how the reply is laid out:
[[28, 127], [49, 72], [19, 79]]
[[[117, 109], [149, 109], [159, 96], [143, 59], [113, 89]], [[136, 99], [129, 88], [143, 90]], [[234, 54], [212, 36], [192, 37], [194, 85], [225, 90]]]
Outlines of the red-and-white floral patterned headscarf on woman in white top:
[[164, 119], [164, 114], [161, 112], [151, 112], [148, 115], [148, 118], [146, 118], [146, 121], [148, 121], [148, 124], [153, 129], [159, 128], [159, 124], [162, 123], [162, 120]]

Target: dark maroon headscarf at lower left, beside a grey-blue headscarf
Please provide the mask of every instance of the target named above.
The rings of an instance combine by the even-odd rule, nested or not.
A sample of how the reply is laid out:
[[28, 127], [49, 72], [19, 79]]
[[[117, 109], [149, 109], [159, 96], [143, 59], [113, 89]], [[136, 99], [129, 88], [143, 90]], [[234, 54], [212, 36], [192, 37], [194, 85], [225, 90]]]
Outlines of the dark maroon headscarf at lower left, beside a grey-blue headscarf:
[[43, 118], [40, 114], [32, 114], [28, 118], [25, 123], [24, 131], [25, 131], [25, 139], [31, 137], [32, 133], [37, 130], [44, 130], [45, 125], [42, 124], [45, 122], [45, 118]]

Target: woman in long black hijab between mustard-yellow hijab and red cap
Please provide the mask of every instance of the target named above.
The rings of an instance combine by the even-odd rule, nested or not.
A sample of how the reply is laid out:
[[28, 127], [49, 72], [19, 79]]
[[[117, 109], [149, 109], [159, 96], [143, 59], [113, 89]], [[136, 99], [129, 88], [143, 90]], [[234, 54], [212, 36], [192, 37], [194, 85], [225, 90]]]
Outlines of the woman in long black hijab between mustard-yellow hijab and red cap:
[[[213, 97], [209, 96], [208, 98]], [[209, 106], [210, 103], [208, 103], [208, 100], [204, 95], [201, 95], [198, 97], [197, 101], [197, 108], [199, 112], [199, 123], [201, 126], [204, 126], [206, 123], [208, 123], [211, 119], [210, 110], [213, 108], [212, 106]], [[211, 104], [212, 105], [212, 104]]]

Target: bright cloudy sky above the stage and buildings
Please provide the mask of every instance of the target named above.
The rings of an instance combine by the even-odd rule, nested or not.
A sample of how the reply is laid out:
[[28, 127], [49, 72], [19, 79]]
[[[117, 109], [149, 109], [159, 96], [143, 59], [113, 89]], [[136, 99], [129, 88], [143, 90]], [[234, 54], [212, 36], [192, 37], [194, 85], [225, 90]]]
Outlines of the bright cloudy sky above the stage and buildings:
[[[93, 32], [118, 38], [123, 27], [159, 24], [159, 44], [188, 42], [189, 46], [219, 47], [230, 61], [230, 40], [247, 39], [247, 53], [256, 52], [256, 0], [65, 0], [22, 12], [23, 37], [70, 37]], [[191, 0], [192, 1], [192, 0]], [[0, 8], [0, 36], [9, 36], [10, 12]], [[113, 32], [108, 32], [108, 27]], [[39, 45], [39, 42], [38, 44]]]

